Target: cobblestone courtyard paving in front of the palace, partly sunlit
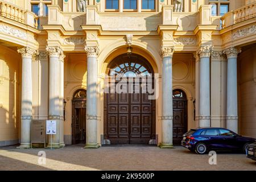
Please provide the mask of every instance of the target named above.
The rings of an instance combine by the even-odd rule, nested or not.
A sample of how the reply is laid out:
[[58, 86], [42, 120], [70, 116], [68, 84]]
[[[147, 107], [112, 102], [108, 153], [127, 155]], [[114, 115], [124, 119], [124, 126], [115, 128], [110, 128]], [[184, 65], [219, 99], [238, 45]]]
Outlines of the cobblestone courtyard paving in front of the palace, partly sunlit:
[[[38, 164], [38, 152], [46, 152], [46, 164]], [[56, 150], [18, 150], [0, 147], [0, 170], [256, 170], [245, 154], [217, 153], [217, 165], [208, 155], [196, 155], [183, 147], [111, 146], [84, 149], [81, 145]]]

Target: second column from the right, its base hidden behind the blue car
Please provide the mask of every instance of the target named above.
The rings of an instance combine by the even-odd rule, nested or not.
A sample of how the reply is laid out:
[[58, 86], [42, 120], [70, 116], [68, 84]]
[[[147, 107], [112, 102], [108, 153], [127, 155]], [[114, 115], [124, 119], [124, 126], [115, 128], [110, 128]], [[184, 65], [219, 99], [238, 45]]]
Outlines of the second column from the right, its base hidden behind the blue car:
[[212, 47], [200, 47], [200, 101], [199, 101], [199, 127], [210, 127], [210, 53]]

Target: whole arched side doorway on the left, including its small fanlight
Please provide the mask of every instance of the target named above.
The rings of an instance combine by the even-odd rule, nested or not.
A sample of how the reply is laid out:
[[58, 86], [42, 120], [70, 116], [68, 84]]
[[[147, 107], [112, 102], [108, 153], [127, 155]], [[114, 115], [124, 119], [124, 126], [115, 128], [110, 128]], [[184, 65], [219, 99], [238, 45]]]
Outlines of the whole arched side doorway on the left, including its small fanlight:
[[72, 99], [72, 144], [85, 143], [86, 90], [79, 89]]

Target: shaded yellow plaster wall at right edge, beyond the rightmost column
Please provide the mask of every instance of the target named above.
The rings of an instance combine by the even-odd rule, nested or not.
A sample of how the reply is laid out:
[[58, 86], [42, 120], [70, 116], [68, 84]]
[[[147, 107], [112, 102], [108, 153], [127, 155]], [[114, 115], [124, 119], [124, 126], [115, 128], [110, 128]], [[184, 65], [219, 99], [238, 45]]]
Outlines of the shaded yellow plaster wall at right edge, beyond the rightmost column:
[[256, 46], [238, 56], [240, 133], [256, 138]]

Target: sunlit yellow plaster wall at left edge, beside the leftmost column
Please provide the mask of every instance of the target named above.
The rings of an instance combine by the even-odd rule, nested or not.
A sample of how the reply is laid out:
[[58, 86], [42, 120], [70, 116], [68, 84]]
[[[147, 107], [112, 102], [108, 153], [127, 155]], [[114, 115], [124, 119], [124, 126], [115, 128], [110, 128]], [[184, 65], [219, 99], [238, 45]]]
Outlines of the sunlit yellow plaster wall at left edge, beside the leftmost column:
[[18, 143], [21, 57], [0, 46], [0, 146]]

